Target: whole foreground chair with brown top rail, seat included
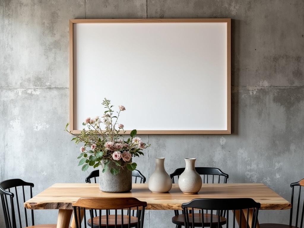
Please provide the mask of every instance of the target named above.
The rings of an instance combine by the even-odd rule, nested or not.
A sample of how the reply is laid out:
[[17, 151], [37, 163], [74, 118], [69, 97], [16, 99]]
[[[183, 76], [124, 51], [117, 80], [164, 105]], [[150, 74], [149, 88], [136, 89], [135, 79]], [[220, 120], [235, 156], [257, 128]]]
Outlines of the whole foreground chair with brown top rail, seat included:
[[[93, 227], [98, 228], [143, 228], [147, 202], [139, 201], [136, 198], [80, 198], [76, 202], [73, 202], [72, 206], [74, 215], [77, 215], [74, 216], [76, 228], [81, 228], [81, 210], [83, 210], [85, 221], [85, 210], [90, 210], [91, 218], [88, 219], [89, 226], [93, 220]], [[136, 208], [140, 212], [138, 217], [131, 216], [132, 208]], [[98, 217], [93, 217], [93, 210], [98, 210]], [[102, 215], [102, 210], [105, 211], [105, 215]], [[115, 214], [109, 215], [109, 210], [115, 210]], [[117, 214], [118, 210], [121, 211], [121, 214]], [[123, 214], [124, 210], [128, 210], [128, 215]], [[84, 227], [87, 227], [86, 223]]]

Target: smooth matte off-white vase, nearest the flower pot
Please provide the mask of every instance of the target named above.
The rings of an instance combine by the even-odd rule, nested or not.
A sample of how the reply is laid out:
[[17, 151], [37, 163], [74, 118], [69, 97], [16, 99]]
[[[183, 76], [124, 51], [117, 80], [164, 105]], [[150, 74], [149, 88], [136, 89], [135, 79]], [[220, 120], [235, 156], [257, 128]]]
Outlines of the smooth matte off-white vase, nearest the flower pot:
[[164, 167], [164, 157], [156, 157], [155, 170], [148, 181], [148, 188], [154, 193], [169, 192], [172, 188], [172, 180]]

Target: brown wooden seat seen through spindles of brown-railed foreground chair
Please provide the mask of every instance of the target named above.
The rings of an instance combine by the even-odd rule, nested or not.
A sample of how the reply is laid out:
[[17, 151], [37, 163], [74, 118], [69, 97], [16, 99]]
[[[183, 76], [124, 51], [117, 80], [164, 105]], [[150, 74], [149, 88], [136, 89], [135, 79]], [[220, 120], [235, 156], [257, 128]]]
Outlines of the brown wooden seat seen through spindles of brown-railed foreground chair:
[[[107, 217], [105, 215], [101, 216], [102, 227], [106, 226], [106, 224], [107, 224], [106, 219], [107, 219]], [[123, 215], [123, 224], [125, 224], [123, 226], [128, 227], [128, 222], [129, 222], [129, 216], [128, 215]], [[138, 222], [137, 217], [131, 216], [130, 227], [137, 226], [137, 222]], [[99, 224], [99, 216], [96, 216], [96, 217], [93, 218], [93, 227], [98, 227], [98, 224]], [[91, 219], [88, 219], [88, 226], [91, 226]], [[115, 215], [109, 215], [108, 226], [115, 226]], [[116, 226], [119, 227], [119, 228], [121, 227], [121, 215], [117, 215]]]

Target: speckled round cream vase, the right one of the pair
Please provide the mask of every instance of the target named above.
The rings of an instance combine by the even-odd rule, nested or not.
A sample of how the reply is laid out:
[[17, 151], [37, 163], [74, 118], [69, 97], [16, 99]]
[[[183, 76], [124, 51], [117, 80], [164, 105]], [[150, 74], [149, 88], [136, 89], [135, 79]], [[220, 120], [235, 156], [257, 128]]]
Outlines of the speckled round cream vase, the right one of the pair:
[[202, 178], [195, 170], [195, 158], [185, 158], [185, 171], [178, 178], [178, 186], [185, 194], [197, 194], [202, 188]]

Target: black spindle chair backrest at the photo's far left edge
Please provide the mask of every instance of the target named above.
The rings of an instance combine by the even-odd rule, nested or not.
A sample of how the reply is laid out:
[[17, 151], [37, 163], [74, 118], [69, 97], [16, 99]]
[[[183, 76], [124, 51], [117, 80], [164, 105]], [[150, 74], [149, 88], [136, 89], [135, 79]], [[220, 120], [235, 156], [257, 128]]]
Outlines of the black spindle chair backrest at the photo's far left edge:
[[[26, 201], [26, 192], [25, 192], [25, 186], [29, 186], [29, 194], [30, 198], [33, 197], [32, 188], [34, 187], [33, 183], [25, 182], [21, 179], [10, 179], [0, 182], [0, 196], [1, 196], [1, 202], [2, 202], [2, 210], [4, 214], [4, 221], [5, 221], [5, 227], [6, 228], [16, 228], [16, 211], [18, 214], [18, 226], [20, 228], [24, 227], [24, 223], [22, 225], [22, 218], [21, 215], [22, 209], [24, 210], [24, 218], [25, 218], [25, 226], [28, 225], [27, 220], [27, 209], [23, 206], [23, 203]], [[20, 200], [20, 197], [18, 196], [18, 191], [21, 194], [22, 190], [22, 199]], [[19, 204], [19, 201], [21, 203]], [[20, 207], [21, 205], [21, 207]], [[34, 213], [33, 210], [31, 211], [31, 218], [32, 218], [32, 226], [34, 226]], [[21, 218], [22, 217], [22, 218]]]

